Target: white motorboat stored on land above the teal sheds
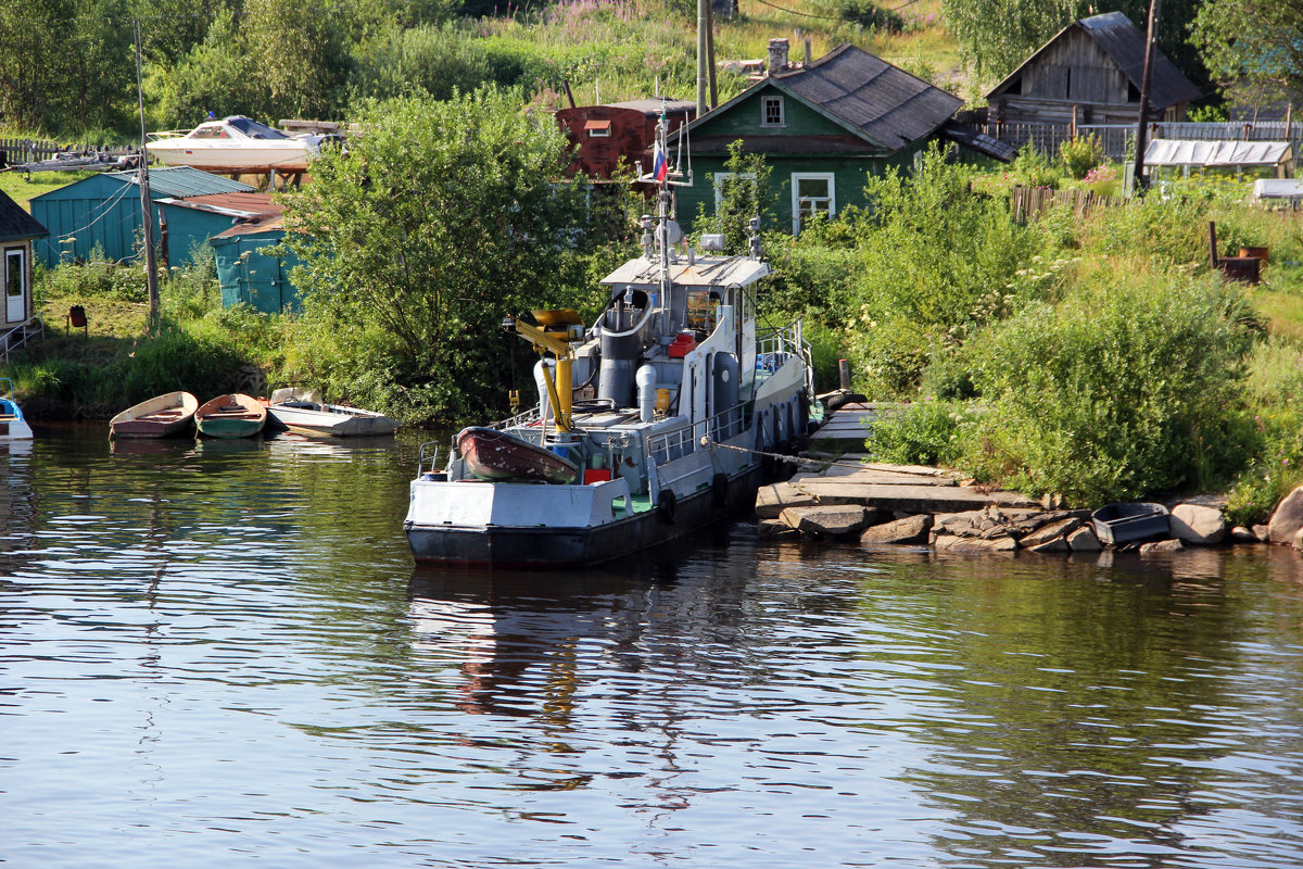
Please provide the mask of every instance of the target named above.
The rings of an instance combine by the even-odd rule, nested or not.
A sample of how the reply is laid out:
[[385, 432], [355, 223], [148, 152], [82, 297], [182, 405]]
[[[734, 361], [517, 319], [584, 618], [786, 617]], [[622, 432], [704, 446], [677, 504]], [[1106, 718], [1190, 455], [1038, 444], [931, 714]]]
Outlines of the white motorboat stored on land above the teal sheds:
[[208, 172], [305, 172], [328, 135], [291, 135], [244, 115], [206, 121], [189, 133], [154, 133], [150, 155]]

